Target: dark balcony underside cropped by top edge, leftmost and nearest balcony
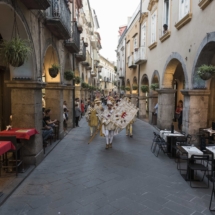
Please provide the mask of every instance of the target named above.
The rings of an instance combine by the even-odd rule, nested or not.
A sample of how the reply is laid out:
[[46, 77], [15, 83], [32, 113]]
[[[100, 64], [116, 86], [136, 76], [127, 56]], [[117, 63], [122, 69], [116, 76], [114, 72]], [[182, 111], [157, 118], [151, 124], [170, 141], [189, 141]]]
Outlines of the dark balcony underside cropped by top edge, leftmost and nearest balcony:
[[51, 0], [21, 0], [29, 10], [46, 10], [51, 5]]

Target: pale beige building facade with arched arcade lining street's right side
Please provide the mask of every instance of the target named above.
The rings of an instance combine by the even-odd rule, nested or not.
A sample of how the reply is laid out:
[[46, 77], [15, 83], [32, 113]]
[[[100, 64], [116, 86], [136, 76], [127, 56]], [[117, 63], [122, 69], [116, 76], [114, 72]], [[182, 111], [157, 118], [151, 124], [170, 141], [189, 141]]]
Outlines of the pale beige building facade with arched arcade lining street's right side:
[[[138, 94], [142, 118], [151, 122], [158, 103], [160, 129], [170, 128], [179, 100], [184, 103], [184, 132], [195, 134], [215, 120], [215, 80], [204, 81], [197, 75], [199, 66], [215, 65], [214, 9], [215, 2], [208, 0], [143, 0], [139, 18], [127, 28], [126, 53], [132, 57], [126, 57], [133, 58], [136, 67], [129, 68], [127, 59], [125, 84], [130, 86], [131, 98]], [[134, 39], [133, 47], [127, 41], [138, 32], [133, 31], [135, 23], [139, 23], [140, 34], [136, 49]], [[137, 93], [132, 91], [134, 78]], [[153, 86], [157, 89], [152, 90]]]

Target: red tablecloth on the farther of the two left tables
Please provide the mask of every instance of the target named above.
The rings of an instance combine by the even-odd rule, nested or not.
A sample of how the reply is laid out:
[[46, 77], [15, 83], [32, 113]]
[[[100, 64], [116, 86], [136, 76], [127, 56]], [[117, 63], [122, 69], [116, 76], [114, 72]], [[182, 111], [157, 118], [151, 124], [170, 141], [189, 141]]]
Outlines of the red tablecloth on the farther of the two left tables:
[[26, 140], [35, 134], [39, 134], [35, 128], [13, 128], [9, 131], [0, 131], [0, 136], [16, 136], [17, 139]]

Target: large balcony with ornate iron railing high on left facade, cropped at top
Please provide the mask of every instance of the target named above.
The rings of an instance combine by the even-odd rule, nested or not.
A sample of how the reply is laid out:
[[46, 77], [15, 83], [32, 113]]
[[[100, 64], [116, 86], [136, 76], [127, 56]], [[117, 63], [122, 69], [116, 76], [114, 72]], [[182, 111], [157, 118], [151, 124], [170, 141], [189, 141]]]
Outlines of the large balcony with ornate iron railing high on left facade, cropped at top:
[[60, 40], [71, 38], [71, 13], [65, 0], [52, 0], [45, 11], [45, 25]]

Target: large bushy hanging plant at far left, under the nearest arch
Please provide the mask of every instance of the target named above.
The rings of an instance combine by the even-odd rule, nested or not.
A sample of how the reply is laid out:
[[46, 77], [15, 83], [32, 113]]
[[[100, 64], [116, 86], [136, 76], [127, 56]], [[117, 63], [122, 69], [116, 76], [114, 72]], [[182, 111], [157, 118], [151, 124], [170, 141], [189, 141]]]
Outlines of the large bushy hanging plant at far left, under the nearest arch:
[[0, 45], [0, 55], [6, 63], [13, 67], [20, 67], [32, 53], [29, 41], [21, 38], [13, 38], [3, 41]]

